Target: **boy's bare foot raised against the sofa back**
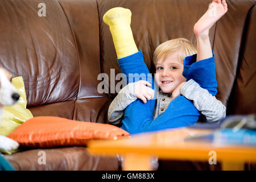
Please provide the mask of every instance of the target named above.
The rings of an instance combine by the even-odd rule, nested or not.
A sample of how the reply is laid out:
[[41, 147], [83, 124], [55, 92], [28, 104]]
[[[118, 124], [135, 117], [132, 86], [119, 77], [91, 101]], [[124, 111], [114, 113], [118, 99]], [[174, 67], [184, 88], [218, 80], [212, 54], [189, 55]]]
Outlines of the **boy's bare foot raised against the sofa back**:
[[194, 33], [196, 36], [208, 35], [210, 27], [228, 11], [228, 5], [225, 0], [213, 0], [209, 5], [207, 12], [196, 22]]

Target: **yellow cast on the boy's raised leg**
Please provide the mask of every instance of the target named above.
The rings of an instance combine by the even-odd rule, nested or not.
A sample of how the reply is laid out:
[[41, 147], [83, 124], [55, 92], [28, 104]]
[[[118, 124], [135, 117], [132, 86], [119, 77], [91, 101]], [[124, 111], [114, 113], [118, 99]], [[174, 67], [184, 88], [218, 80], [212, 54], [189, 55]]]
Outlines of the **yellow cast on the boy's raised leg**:
[[130, 27], [131, 11], [129, 9], [114, 7], [105, 13], [103, 20], [109, 26], [118, 59], [138, 52]]

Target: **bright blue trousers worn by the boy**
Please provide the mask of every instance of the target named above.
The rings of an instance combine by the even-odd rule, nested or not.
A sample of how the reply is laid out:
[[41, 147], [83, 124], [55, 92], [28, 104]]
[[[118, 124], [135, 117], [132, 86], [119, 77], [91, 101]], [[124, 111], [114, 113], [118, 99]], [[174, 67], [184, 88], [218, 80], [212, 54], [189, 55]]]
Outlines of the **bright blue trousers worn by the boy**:
[[[152, 76], [148, 76], [149, 71], [144, 63], [142, 51], [118, 59], [118, 63], [121, 71], [127, 76], [128, 82], [138, 81], [138, 78], [132, 78], [129, 73], [137, 73], [137, 77], [144, 73], [146, 79], [152, 78]], [[213, 96], [217, 93], [214, 53], [209, 59], [201, 61], [196, 61], [196, 55], [187, 56], [183, 64], [183, 76], [187, 78], [187, 81], [192, 78]], [[144, 80], [144, 78], [142, 79]], [[152, 82], [152, 88], [156, 90], [154, 81]], [[200, 111], [196, 109], [193, 102], [184, 96], [178, 96], [171, 101], [166, 111], [155, 119], [153, 115], [154, 107], [155, 99], [148, 101], [146, 104], [141, 100], [134, 101], [125, 109], [121, 128], [130, 134], [170, 129], [193, 125], [200, 116]]]

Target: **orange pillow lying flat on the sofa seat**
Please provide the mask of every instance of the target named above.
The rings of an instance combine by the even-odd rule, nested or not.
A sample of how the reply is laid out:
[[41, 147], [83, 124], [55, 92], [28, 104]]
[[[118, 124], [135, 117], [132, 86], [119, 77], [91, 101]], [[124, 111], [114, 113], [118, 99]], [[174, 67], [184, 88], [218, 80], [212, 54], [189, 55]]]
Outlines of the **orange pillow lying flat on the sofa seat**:
[[60, 117], [34, 117], [7, 137], [24, 147], [85, 146], [90, 139], [130, 137], [119, 127]]

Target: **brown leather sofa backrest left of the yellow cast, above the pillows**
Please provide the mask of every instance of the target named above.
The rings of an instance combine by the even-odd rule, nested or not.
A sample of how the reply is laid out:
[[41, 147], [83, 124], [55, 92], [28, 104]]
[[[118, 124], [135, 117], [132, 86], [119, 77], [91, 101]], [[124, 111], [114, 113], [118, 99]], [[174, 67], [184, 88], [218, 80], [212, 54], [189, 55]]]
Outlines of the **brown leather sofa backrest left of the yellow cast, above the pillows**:
[[0, 67], [23, 76], [34, 116], [106, 122], [96, 1], [3, 0], [0, 17]]

